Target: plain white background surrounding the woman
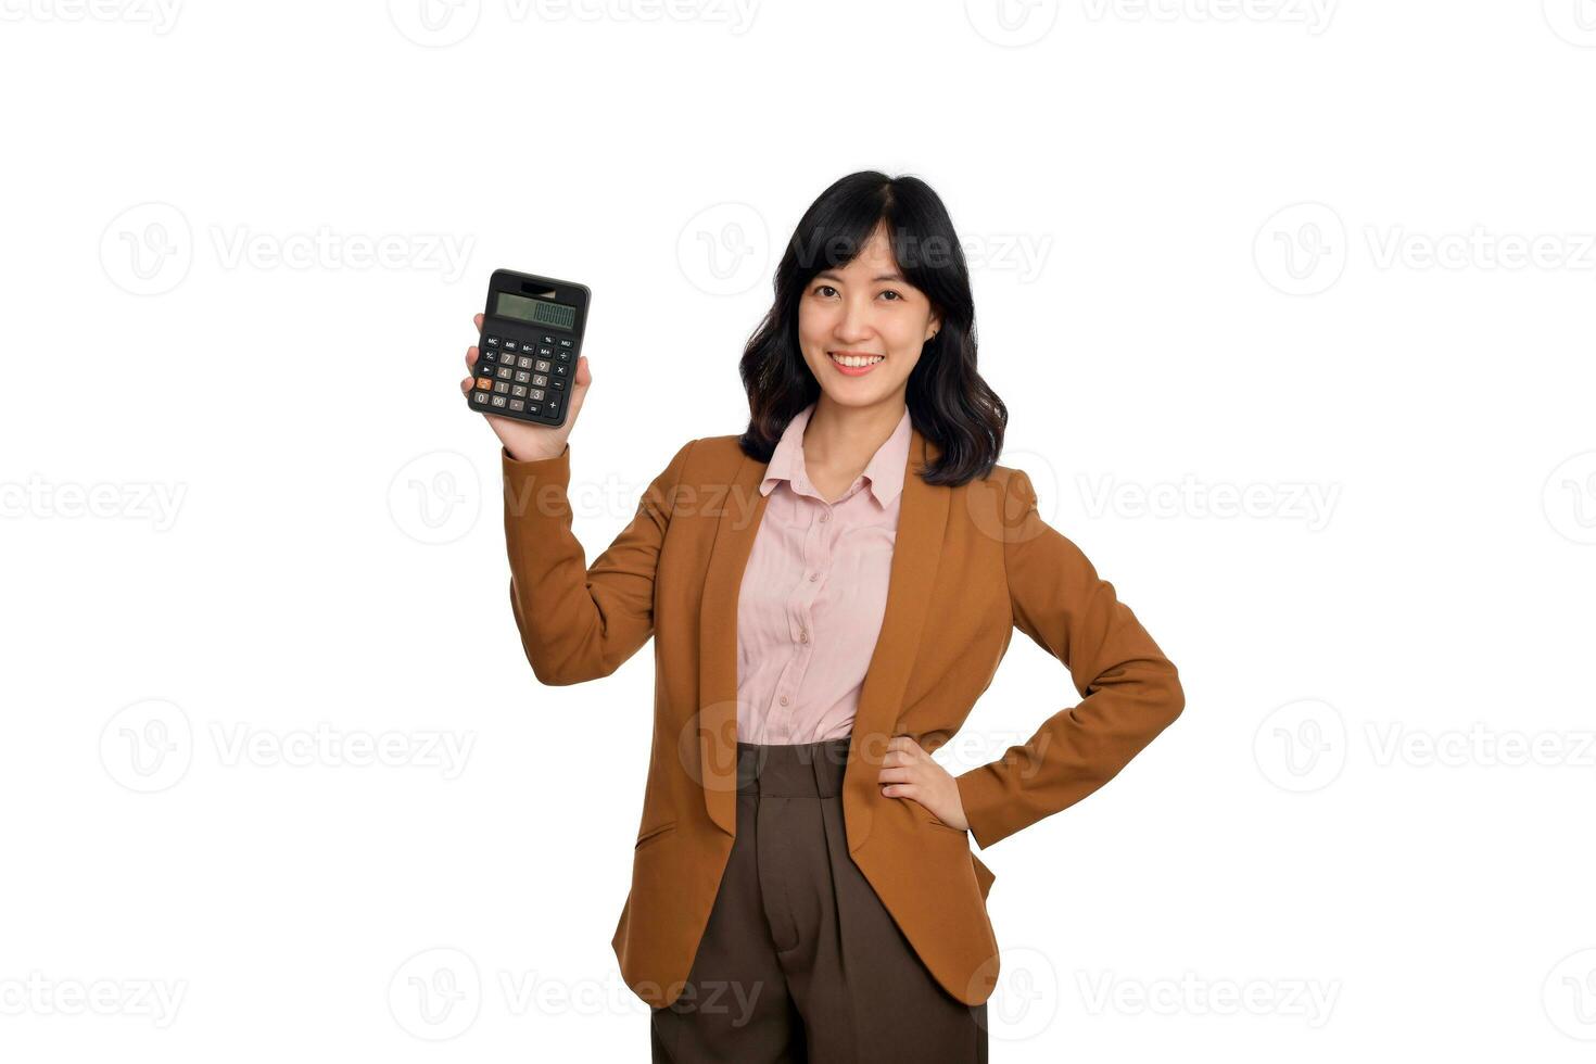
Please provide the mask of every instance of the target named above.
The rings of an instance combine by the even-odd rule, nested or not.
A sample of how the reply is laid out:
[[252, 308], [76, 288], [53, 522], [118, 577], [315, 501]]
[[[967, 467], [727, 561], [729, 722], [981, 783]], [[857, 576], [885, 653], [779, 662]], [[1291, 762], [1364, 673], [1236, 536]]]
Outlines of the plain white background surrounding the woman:
[[875, 167], [1187, 692], [982, 852], [993, 1059], [1588, 1059], [1596, 5], [420, 2], [0, 2], [0, 1056], [646, 1059], [651, 651], [533, 680], [469, 319], [592, 286], [592, 558]]

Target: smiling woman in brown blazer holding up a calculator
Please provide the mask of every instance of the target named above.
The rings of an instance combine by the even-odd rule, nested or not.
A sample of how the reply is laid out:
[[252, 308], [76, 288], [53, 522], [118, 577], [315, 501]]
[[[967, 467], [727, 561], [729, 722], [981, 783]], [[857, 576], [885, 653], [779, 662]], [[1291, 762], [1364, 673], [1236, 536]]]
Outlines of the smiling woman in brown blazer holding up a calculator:
[[[937, 195], [852, 174], [777, 266], [742, 356], [747, 431], [689, 440], [592, 565], [567, 501], [586, 356], [565, 426], [488, 418], [538, 680], [605, 676], [656, 641], [613, 943], [656, 1061], [985, 1061], [993, 874], [969, 839], [1079, 801], [1183, 708], [1175, 665], [996, 464], [1007, 412], [974, 319]], [[1082, 700], [950, 775], [930, 751], [1013, 629]]]

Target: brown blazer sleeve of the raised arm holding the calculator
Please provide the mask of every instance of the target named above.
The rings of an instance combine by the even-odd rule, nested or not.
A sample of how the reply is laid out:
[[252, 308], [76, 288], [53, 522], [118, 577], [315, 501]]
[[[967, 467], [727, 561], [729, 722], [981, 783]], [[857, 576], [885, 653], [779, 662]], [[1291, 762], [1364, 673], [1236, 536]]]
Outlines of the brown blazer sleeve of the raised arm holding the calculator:
[[587, 565], [571, 533], [571, 448], [517, 461], [500, 448], [509, 601], [533, 675], [565, 686], [608, 676], [654, 632], [654, 576], [688, 440], [643, 491], [630, 523]]

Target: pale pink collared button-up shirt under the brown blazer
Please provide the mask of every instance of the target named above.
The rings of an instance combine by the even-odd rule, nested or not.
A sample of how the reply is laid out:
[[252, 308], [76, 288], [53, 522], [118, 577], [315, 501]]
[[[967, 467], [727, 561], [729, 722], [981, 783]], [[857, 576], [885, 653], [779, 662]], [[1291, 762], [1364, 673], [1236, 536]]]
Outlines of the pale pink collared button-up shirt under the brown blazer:
[[881, 633], [908, 463], [908, 410], [847, 491], [809, 483], [804, 407], [760, 491], [771, 496], [737, 593], [737, 740], [846, 739]]

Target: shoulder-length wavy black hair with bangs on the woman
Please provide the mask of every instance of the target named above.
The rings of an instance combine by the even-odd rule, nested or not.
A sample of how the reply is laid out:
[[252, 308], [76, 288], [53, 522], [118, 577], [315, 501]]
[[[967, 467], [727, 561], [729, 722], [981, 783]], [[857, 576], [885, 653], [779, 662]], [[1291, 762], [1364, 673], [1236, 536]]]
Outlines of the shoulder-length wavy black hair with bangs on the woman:
[[749, 338], [739, 372], [749, 392], [742, 453], [768, 463], [787, 424], [820, 397], [798, 346], [798, 301], [811, 278], [852, 262], [886, 222], [899, 271], [942, 313], [908, 376], [910, 421], [942, 448], [926, 483], [985, 477], [1002, 451], [1009, 410], [975, 370], [975, 301], [964, 249], [930, 185], [918, 177], [860, 171], [809, 204], [776, 266], [776, 301]]

